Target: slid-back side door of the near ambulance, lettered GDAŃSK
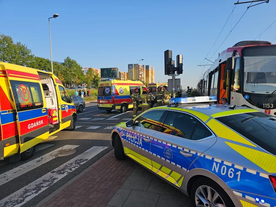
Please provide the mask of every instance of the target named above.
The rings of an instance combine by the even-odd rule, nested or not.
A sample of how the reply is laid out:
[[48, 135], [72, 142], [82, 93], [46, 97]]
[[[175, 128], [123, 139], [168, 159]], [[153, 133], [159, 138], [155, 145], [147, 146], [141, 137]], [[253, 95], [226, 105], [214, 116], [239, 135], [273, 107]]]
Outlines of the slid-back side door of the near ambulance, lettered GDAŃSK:
[[[45, 97], [36, 70], [12, 65], [5, 68], [16, 106], [20, 153], [49, 137]], [[28, 71], [28, 72], [25, 72]]]

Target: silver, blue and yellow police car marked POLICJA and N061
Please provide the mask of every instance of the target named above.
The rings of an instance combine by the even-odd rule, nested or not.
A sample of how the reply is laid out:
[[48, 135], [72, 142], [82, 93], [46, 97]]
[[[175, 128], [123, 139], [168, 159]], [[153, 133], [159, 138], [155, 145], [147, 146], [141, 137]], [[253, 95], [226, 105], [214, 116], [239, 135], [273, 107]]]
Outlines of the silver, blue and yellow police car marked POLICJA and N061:
[[135, 160], [193, 206], [276, 206], [275, 117], [211, 102], [216, 96], [172, 98], [121, 122], [115, 158]]

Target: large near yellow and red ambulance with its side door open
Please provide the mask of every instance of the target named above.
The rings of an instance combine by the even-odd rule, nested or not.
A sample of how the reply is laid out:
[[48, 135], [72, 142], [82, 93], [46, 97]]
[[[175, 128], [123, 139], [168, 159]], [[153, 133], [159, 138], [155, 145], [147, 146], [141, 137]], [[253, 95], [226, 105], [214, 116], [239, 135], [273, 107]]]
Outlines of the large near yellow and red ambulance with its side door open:
[[0, 62], [0, 158], [27, 160], [35, 145], [75, 129], [76, 108], [53, 73]]

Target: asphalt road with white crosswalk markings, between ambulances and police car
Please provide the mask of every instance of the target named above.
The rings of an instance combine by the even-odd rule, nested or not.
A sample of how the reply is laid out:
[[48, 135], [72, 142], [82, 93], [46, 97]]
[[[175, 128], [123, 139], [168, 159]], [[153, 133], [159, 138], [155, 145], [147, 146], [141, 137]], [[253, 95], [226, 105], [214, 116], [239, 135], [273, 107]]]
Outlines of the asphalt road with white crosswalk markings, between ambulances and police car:
[[130, 120], [132, 111], [106, 112], [89, 103], [77, 116], [75, 131], [58, 132], [57, 138], [38, 144], [31, 159], [0, 161], [0, 206], [35, 206], [70, 181], [113, 149], [112, 128]]

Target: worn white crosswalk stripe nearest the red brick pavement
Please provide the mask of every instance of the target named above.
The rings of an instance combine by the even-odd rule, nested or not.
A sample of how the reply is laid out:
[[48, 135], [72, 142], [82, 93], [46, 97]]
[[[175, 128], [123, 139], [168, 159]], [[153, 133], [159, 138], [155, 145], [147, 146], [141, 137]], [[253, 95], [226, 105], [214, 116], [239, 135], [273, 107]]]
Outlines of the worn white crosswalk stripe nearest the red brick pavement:
[[0, 201], [0, 206], [5, 207], [19, 207], [27, 203], [29, 200], [45, 191], [48, 187], [64, 178], [66, 175], [80, 167], [85, 162], [91, 160], [94, 156], [107, 149], [108, 147], [94, 146], [89, 150], [86, 150], [82, 154], [74, 157], [68, 162], [55, 168], [51, 172], [45, 174], [41, 178], [33, 181], [32, 183], [22, 187], [18, 191], [7, 196]]

